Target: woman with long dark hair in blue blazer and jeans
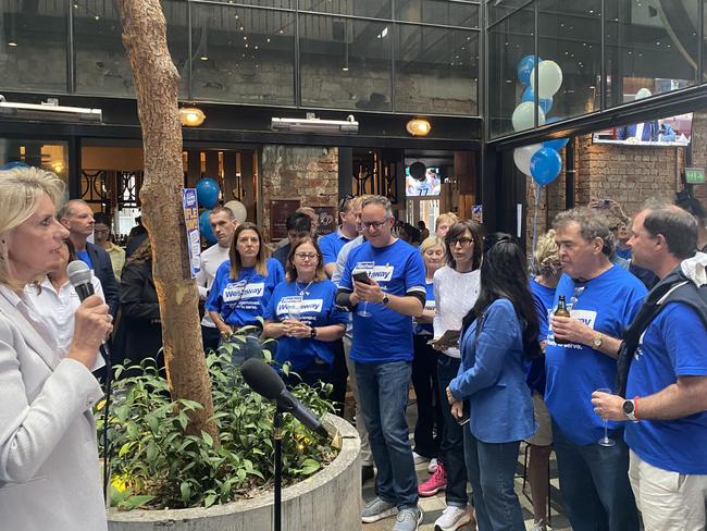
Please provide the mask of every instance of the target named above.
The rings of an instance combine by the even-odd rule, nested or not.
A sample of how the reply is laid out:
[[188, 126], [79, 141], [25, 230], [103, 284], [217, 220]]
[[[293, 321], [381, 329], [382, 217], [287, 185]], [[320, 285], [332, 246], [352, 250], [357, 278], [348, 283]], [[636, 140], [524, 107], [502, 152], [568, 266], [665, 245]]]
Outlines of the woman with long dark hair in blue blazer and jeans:
[[523, 365], [541, 355], [537, 334], [523, 252], [508, 234], [492, 234], [463, 322], [459, 375], [447, 387], [454, 417], [469, 406], [464, 459], [479, 531], [525, 530], [513, 473], [520, 442], [537, 428]]

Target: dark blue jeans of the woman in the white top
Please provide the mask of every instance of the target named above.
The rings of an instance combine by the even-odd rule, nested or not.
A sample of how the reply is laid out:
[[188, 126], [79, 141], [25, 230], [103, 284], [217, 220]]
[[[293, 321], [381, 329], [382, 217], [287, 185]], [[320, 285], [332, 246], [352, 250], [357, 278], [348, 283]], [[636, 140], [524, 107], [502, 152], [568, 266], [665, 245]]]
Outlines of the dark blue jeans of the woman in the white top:
[[437, 383], [439, 393], [437, 399], [442, 405], [444, 417], [442, 443], [439, 444], [439, 459], [447, 472], [447, 489], [445, 501], [447, 505], [466, 507], [469, 503], [467, 495], [467, 467], [464, 466], [464, 431], [469, 428], [460, 427], [451, 416], [451, 406], [447, 400], [447, 386], [459, 372], [459, 358], [441, 354], [437, 358]]

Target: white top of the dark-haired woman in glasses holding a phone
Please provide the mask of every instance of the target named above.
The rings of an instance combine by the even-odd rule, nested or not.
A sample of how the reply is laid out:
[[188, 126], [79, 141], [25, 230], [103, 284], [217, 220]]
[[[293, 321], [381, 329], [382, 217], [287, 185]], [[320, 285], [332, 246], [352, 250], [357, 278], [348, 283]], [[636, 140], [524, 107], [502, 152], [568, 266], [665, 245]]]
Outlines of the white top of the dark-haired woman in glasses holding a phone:
[[[481, 271], [458, 273], [449, 266], [434, 273], [435, 312], [433, 320], [434, 336], [439, 337], [447, 330], [461, 330], [461, 321], [479, 298]], [[458, 348], [447, 348], [444, 354], [461, 358]]]

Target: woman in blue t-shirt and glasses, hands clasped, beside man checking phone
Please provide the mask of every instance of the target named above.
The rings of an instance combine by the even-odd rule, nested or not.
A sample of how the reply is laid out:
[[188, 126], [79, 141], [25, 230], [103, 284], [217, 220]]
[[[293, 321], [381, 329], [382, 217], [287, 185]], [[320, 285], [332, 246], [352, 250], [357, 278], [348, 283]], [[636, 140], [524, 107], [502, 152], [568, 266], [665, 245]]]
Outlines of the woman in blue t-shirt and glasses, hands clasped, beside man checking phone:
[[336, 285], [326, 277], [322, 252], [307, 236], [293, 245], [287, 274], [265, 310], [264, 337], [277, 342], [278, 363], [288, 361], [289, 385], [318, 381], [330, 383], [334, 367], [334, 342], [344, 336], [348, 316], [336, 308]]

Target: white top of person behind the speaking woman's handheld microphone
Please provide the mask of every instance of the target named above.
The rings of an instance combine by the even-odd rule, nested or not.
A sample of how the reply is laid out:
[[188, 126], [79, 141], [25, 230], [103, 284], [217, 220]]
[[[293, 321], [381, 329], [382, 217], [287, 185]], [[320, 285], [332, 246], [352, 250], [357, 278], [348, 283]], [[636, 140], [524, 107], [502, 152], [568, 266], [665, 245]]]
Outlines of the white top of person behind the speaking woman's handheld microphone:
[[[101, 281], [97, 276], [91, 276], [91, 284], [94, 294], [106, 300]], [[25, 294], [32, 301], [33, 309], [54, 337], [59, 357], [64, 358], [69, 354], [69, 347], [74, 338], [74, 313], [80, 306], [80, 299], [74, 286], [69, 282], [57, 291], [51, 281], [45, 276], [39, 286], [40, 291], [33, 285], [25, 286]], [[104, 365], [106, 360], [99, 354], [91, 370], [100, 369]]]

